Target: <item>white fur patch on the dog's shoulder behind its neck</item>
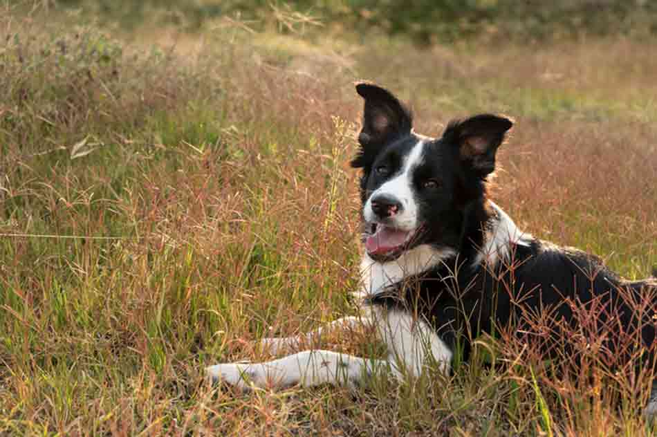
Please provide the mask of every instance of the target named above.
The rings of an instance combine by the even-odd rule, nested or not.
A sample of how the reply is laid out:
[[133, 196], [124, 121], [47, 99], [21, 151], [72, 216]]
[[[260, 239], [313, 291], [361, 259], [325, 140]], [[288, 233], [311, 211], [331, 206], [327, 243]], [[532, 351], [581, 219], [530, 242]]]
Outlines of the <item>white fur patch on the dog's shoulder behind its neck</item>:
[[485, 232], [485, 241], [474, 259], [474, 265], [484, 263], [488, 268], [492, 268], [499, 261], [510, 260], [510, 246], [513, 243], [528, 246], [533, 237], [531, 234], [519, 230], [508, 214], [499, 206], [491, 201], [489, 203], [495, 210], [497, 218], [494, 218], [492, 229]]

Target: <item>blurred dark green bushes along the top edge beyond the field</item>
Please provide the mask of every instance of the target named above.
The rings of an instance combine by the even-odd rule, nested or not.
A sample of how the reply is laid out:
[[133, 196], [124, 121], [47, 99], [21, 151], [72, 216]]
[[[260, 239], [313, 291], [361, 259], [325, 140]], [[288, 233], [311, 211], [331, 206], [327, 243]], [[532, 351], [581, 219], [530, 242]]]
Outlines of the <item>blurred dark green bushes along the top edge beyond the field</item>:
[[[568, 37], [657, 33], [657, 4], [649, 0], [59, 0], [61, 8], [83, 8], [127, 28], [174, 24], [194, 31], [217, 17], [271, 24], [272, 10], [317, 19], [328, 30], [405, 35], [418, 44], [472, 37], [534, 41]], [[298, 15], [299, 26], [304, 19]], [[291, 29], [288, 29], [291, 30]]]

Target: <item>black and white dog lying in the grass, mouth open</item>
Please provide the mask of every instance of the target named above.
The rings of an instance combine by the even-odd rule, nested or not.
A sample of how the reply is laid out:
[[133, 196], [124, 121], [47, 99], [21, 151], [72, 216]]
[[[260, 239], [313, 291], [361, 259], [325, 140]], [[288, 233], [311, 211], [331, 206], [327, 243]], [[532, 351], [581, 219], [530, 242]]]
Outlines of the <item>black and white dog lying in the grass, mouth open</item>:
[[[351, 164], [362, 169], [366, 314], [331, 325], [373, 324], [389, 359], [312, 350], [259, 364], [210, 366], [212, 380], [244, 388], [308, 387], [355, 384], [378, 367], [399, 378], [417, 376], [430, 363], [448, 372], [457, 348], [467, 360], [472, 337], [512, 324], [526, 342], [554, 355], [564, 333], [580, 328], [581, 308], [595, 311], [586, 329], [600, 340], [600, 353], [636, 357], [645, 348], [651, 357], [657, 281], [626, 281], [597, 257], [535, 239], [488, 199], [487, 178], [511, 120], [475, 115], [451, 122], [441, 138], [428, 138], [412, 130], [410, 112], [389, 91], [365, 82], [356, 91], [364, 98], [364, 119]], [[542, 312], [553, 324], [545, 332], [527, 318]], [[316, 334], [263, 344], [281, 351]], [[630, 350], [617, 350], [623, 335], [634, 339]], [[577, 362], [577, 339], [561, 350]], [[657, 411], [657, 402], [647, 411]]]

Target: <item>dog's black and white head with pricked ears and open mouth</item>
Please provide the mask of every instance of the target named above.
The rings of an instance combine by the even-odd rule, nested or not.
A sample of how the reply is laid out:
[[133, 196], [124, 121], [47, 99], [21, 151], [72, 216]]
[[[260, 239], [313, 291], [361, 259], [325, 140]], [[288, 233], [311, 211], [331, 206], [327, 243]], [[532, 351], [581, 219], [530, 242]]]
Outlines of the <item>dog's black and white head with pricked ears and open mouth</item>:
[[391, 261], [418, 245], [459, 250], [465, 210], [483, 201], [485, 179], [512, 121], [481, 114], [447, 125], [441, 138], [412, 130], [410, 111], [380, 86], [362, 82], [360, 190], [365, 248]]

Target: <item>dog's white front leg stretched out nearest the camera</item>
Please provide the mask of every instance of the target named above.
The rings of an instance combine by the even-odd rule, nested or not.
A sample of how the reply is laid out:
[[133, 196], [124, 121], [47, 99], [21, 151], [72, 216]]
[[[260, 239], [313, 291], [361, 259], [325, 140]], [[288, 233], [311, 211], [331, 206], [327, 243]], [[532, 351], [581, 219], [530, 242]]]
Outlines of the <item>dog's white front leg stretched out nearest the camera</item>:
[[385, 361], [366, 360], [331, 351], [304, 351], [279, 360], [248, 364], [216, 364], [205, 369], [212, 382], [227, 382], [241, 389], [255, 387], [313, 387], [320, 384], [358, 384], [364, 375]]

